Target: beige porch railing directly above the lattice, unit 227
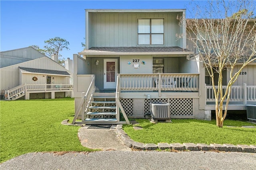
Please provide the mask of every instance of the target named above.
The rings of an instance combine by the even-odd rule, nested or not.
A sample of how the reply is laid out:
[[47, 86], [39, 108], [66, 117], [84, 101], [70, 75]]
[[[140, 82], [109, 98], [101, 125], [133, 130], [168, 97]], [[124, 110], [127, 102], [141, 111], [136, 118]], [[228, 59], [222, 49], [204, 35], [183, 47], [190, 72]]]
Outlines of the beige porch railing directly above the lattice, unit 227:
[[198, 91], [199, 74], [118, 74], [121, 91]]

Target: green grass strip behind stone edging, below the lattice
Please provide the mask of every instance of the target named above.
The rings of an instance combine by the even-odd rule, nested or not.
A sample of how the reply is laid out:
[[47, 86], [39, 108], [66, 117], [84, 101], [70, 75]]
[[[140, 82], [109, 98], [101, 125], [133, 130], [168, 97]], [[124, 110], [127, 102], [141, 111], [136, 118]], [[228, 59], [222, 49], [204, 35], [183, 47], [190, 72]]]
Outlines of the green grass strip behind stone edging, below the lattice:
[[172, 119], [173, 123], [157, 124], [146, 119], [136, 121], [139, 123], [136, 126], [142, 127], [142, 130], [134, 130], [132, 125], [123, 126], [124, 131], [136, 142], [256, 144], [256, 128], [242, 128], [253, 125], [242, 121], [225, 120], [223, 128], [218, 128], [216, 121], [195, 119]]

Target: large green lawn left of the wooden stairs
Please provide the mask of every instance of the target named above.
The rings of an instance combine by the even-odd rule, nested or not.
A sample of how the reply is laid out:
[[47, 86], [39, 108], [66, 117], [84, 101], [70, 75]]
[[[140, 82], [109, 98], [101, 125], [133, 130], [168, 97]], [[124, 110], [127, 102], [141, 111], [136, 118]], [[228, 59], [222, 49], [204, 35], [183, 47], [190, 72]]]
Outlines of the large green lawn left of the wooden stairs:
[[92, 151], [78, 128], [61, 125], [74, 117], [74, 99], [0, 101], [0, 162], [28, 152]]

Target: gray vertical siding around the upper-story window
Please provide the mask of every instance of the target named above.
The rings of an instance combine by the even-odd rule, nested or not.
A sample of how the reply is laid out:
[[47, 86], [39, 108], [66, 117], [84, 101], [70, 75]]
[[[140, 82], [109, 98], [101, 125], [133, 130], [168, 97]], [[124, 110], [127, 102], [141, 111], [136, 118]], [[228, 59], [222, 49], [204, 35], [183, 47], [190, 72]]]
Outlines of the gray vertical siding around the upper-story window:
[[182, 27], [178, 25], [179, 21], [176, 19], [177, 15], [178, 12], [89, 13], [89, 48], [135, 47], [138, 18], [164, 18], [164, 45], [182, 47], [182, 40], [176, 41], [176, 34], [182, 33]]

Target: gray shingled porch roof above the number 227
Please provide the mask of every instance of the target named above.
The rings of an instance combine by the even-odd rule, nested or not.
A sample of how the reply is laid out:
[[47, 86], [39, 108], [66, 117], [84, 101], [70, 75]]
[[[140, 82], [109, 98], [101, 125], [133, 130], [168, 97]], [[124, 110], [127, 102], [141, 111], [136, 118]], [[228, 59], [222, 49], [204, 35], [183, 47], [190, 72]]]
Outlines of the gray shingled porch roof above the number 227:
[[91, 47], [90, 49], [85, 49], [82, 53], [193, 53], [188, 49], [183, 49], [180, 47]]

